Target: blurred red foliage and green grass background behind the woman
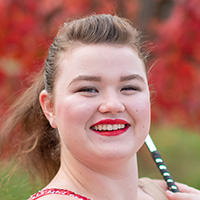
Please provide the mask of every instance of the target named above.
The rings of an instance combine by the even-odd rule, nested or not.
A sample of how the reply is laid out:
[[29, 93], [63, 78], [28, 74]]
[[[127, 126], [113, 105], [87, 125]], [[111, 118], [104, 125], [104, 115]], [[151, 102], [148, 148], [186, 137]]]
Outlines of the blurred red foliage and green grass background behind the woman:
[[[128, 18], [149, 41], [152, 138], [173, 178], [200, 189], [199, 0], [0, 0], [0, 116], [43, 66], [59, 26], [93, 13]], [[145, 146], [138, 160], [141, 177], [162, 178]], [[7, 170], [0, 166], [0, 199], [26, 199], [41, 187], [23, 169], [12, 177]]]

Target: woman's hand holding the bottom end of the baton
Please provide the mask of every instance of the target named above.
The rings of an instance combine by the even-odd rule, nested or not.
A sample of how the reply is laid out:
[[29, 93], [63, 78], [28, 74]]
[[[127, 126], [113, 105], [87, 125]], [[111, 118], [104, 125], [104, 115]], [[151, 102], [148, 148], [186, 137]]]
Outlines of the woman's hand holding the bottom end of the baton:
[[189, 187], [185, 184], [176, 183], [180, 192], [173, 193], [166, 191], [166, 196], [169, 200], [200, 200], [200, 191]]

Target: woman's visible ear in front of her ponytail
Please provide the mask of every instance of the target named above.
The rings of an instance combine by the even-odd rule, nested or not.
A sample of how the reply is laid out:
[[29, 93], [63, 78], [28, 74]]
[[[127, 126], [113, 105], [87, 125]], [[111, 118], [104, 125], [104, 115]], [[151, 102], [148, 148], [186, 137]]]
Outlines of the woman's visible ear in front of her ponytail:
[[52, 128], [57, 128], [54, 105], [51, 95], [46, 90], [42, 90], [42, 92], [40, 93], [39, 101], [43, 113], [51, 124]]

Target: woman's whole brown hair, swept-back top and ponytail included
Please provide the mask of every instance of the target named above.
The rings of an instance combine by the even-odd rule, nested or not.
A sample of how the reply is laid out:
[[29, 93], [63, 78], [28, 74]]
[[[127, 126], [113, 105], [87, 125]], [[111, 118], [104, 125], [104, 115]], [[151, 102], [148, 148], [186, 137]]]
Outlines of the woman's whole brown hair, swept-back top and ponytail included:
[[0, 136], [0, 159], [8, 158], [6, 152], [15, 155], [47, 182], [60, 166], [60, 142], [57, 130], [42, 112], [39, 94], [43, 89], [53, 94], [60, 53], [79, 44], [128, 45], [146, 60], [140, 32], [126, 19], [103, 14], [64, 23], [49, 48], [44, 68], [33, 85], [11, 106]]

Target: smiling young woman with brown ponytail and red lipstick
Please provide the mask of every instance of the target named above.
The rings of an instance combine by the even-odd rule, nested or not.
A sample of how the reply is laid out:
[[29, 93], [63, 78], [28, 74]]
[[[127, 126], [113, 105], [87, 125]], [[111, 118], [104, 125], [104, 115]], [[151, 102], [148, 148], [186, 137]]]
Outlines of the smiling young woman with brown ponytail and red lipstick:
[[1, 133], [1, 152], [18, 144], [17, 156], [48, 182], [30, 200], [200, 198], [187, 186], [171, 194], [163, 181], [138, 179], [136, 154], [150, 128], [145, 64], [140, 33], [125, 19], [62, 26]]

